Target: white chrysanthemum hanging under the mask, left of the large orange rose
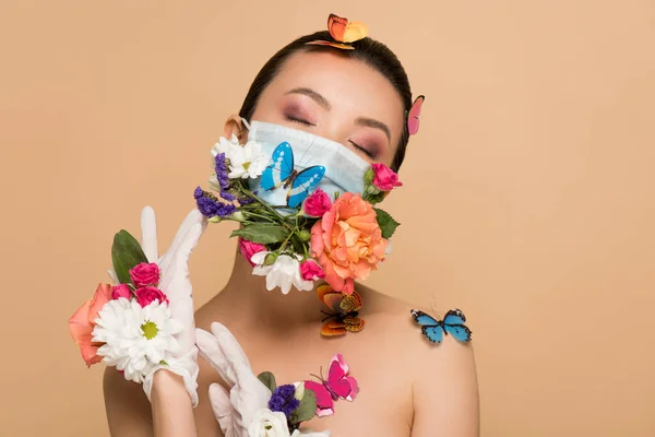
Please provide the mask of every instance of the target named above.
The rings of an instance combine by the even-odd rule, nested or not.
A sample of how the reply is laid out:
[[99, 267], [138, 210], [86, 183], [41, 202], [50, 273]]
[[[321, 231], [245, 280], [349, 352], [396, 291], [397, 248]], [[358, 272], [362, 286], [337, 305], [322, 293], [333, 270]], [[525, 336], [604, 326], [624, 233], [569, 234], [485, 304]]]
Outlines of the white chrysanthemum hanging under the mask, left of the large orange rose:
[[278, 286], [283, 294], [287, 294], [291, 285], [302, 291], [313, 288], [313, 281], [305, 281], [300, 275], [300, 257], [293, 258], [288, 255], [281, 255], [273, 264], [264, 265], [269, 253], [271, 252], [261, 251], [250, 258], [257, 264], [252, 269], [252, 274], [266, 276], [266, 290], [272, 291]]

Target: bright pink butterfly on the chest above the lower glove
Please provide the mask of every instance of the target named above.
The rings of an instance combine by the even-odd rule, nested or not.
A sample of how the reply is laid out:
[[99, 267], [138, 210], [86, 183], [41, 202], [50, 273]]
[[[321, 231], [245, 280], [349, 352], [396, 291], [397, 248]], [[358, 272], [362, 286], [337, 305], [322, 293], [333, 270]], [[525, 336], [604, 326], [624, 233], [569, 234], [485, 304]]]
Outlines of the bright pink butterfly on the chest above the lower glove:
[[341, 354], [336, 354], [330, 362], [327, 380], [321, 376], [321, 382], [305, 381], [305, 388], [313, 390], [317, 394], [317, 415], [319, 417], [334, 414], [334, 401], [338, 398], [353, 401], [359, 388], [357, 379], [349, 375], [348, 365]]

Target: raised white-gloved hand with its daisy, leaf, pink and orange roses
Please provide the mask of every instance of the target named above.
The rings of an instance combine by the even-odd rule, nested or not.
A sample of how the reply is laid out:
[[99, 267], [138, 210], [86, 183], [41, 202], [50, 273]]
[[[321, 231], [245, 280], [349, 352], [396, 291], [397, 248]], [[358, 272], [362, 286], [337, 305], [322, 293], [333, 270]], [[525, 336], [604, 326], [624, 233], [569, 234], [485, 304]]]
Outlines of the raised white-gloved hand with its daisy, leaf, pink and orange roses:
[[114, 270], [109, 271], [115, 285], [100, 283], [94, 297], [69, 320], [87, 366], [100, 361], [116, 366], [126, 379], [143, 383], [148, 398], [152, 376], [166, 368], [183, 378], [193, 405], [198, 403], [198, 350], [187, 262], [204, 229], [203, 221], [200, 212], [192, 211], [159, 260], [152, 209], [145, 208], [142, 214], [143, 248], [127, 231], [116, 234]]

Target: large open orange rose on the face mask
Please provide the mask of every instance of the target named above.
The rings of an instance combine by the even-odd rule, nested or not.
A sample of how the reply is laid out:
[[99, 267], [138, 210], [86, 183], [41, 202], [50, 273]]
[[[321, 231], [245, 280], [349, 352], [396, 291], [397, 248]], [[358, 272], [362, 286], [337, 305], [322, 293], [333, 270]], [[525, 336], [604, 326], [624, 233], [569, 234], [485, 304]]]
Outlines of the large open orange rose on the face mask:
[[333, 290], [347, 295], [384, 260], [389, 241], [376, 211], [361, 196], [346, 192], [311, 228], [311, 249]]

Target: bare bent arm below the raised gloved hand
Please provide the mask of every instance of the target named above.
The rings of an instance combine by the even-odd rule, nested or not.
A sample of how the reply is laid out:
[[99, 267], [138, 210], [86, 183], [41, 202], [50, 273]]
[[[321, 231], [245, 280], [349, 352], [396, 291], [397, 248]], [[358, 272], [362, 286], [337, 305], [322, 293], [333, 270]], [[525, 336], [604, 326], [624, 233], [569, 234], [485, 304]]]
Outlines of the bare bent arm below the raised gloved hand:
[[112, 437], [195, 437], [189, 393], [181, 378], [166, 370], [155, 374], [151, 404], [140, 385], [116, 368], [105, 369], [105, 410]]

